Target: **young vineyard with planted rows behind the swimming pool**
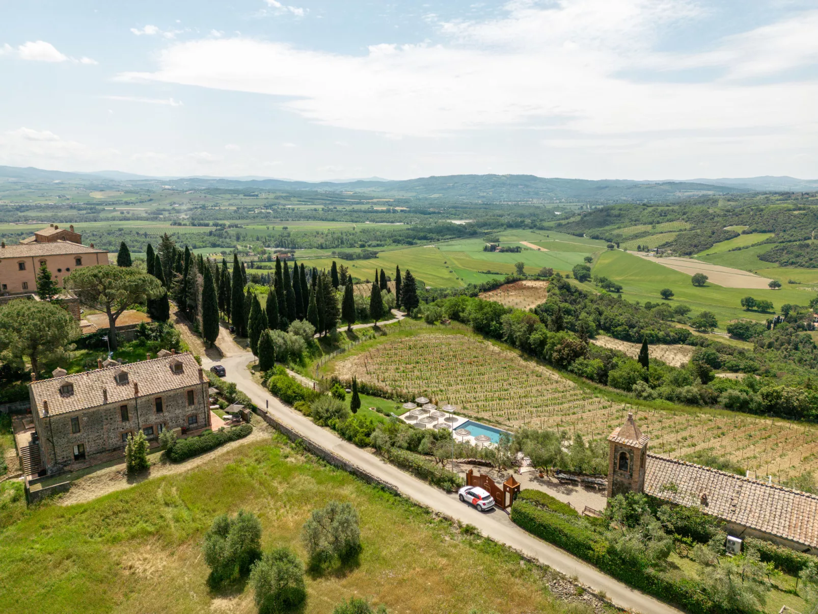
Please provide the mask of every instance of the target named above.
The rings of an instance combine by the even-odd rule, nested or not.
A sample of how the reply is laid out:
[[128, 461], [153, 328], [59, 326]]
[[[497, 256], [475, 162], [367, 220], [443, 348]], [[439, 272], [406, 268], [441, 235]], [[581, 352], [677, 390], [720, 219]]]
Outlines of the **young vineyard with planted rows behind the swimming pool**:
[[818, 429], [739, 413], [644, 409], [587, 394], [555, 372], [460, 334], [419, 334], [339, 361], [335, 374], [383, 386], [404, 398], [428, 396], [467, 416], [506, 427], [535, 427], [605, 438], [628, 411], [649, 450], [673, 458], [717, 459], [735, 472], [784, 481], [818, 468]]

